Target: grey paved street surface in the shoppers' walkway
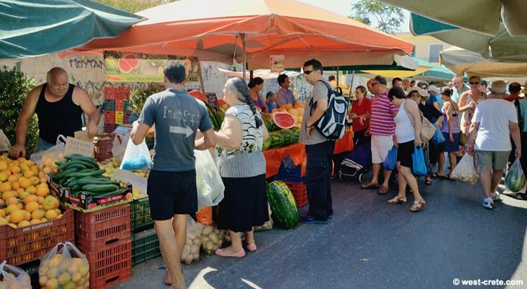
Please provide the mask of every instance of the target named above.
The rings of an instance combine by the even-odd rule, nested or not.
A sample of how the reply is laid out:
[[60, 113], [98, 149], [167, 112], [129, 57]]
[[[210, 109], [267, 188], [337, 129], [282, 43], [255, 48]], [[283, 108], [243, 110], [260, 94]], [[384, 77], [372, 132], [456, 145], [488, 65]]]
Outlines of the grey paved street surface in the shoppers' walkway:
[[[183, 265], [187, 285], [450, 288], [454, 278], [498, 278], [523, 280], [509, 288], [527, 288], [527, 201], [503, 196], [486, 210], [479, 184], [434, 180], [419, 187], [427, 208], [411, 213], [413, 197], [405, 206], [389, 205], [393, 191], [379, 196], [353, 180], [334, 180], [330, 223], [257, 232], [257, 252], [242, 259], [202, 253], [200, 262]], [[198, 276], [207, 267], [217, 271]], [[136, 265], [133, 274], [117, 288], [168, 288], [160, 257]]]

